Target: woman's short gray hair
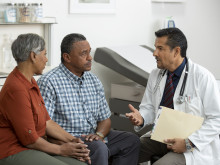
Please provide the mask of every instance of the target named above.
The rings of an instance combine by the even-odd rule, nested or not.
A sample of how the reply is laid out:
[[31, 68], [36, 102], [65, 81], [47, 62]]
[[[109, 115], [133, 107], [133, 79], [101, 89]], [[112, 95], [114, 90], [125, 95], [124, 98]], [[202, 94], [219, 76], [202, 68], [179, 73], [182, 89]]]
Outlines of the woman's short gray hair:
[[11, 45], [11, 51], [17, 63], [27, 61], [31, 52], [39, 54], [44, 49], [44, 39], [33, 33], [19, 35]]

